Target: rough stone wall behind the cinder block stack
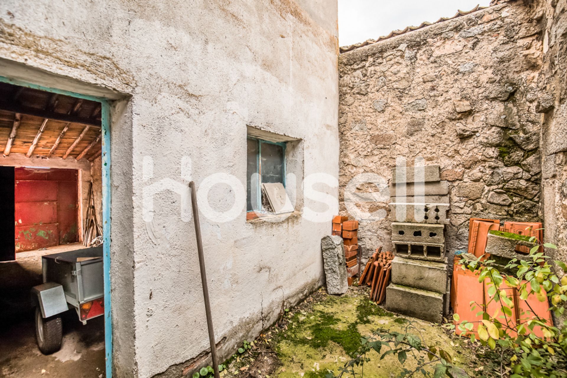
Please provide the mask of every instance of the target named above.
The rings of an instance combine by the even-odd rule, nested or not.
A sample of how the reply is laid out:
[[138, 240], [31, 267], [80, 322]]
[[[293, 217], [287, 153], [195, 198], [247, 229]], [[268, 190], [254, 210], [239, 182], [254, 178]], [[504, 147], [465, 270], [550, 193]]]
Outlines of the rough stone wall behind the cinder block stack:
[[[372, 173], [381, 179], [354, 185], [350, 209], [386, 215], [391, 169], [401, 159], [441, 165], [450, 252], [466, 248], [471, 217], [543, 219], [542, 41], [533, 15], [524, 2], [505, 2], [341, 54], [341, 213], [349, 181]], [[373, 199], [358, 201], [365, 192]], [[392, 248], [387, 219], [357, 218], [367, 252]]]

